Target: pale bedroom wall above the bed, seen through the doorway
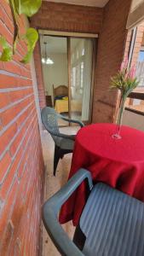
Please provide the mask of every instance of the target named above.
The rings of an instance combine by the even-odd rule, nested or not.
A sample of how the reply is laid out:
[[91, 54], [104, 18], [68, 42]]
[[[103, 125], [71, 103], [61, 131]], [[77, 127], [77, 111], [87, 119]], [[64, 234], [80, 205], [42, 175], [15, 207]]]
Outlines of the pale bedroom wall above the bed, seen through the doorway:
[[67, 55], [50, 54], [49, 57], [54, 61], [53, 65], [43, 64], [43, 79], [47, 95], [53, 95], [53, 84], [68, 86]]

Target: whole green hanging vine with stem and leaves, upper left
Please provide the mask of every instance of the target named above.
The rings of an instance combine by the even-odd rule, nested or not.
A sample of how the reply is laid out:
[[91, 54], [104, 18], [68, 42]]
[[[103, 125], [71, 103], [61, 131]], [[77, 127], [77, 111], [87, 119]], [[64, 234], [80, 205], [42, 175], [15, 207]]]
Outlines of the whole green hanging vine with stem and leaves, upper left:
[[38, 33], [37, 30], [29, 27], [24, 35], [20, 34], [20, 15], [32, 17], [41, 7], [42, 0], [8, 0], [11, 9], [13, 22], [14, 22], [14, 38], [13, 47], [11, 48], [7, 40], [2, 36], [0, 37], [0, 44], [3, 47], [0, 61], [11, 61], [16, 50], [17, 42], [19, 40], [25, 41], [27, 45], [26, 55], [20, 62], [28, 63], [31, 60], [33, 49], [37, 43]]

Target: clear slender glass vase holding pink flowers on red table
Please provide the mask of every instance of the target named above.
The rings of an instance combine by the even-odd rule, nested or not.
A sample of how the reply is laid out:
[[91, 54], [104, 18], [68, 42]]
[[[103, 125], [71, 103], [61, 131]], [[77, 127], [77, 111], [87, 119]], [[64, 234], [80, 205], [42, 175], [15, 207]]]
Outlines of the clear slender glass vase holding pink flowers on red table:
[[121, 126], [122, 126], [125, 100], [126, 100], [126, 96], [121, 96], [119, 109], [118, 109], [118, 119], [117, 119], [116, 131], [114, 132], [114, 134], [112, 134], [112, 138], [115, 138], [115, 139], [122, 138], [120, 131], [121, 131]]

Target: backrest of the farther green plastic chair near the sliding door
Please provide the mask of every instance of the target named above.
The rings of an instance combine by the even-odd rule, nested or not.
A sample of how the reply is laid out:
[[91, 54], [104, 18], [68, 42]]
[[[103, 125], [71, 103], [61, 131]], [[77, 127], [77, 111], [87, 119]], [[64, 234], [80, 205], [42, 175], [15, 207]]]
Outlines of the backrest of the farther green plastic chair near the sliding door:
[[57, 134], [60, 133], [58, 126], [58, 115], [54, 108], [45, 107], [41, 112], [42, 122], [47, 131], [49, 131], [50, 135], [53, 137], [55, 143], [57, 140]]

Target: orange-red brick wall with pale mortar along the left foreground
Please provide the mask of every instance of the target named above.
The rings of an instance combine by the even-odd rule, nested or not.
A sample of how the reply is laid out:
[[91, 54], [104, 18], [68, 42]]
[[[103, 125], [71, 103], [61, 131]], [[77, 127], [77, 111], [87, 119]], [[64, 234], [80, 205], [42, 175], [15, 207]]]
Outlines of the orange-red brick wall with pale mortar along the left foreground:
[[[20, 20], [23, 28], [25, 21]], [[0, 3], [0, 34], [13, 42], [9, 4]], [[0, 62], [0, 255], [39, 255], [43, 156], [30, 66]]]

